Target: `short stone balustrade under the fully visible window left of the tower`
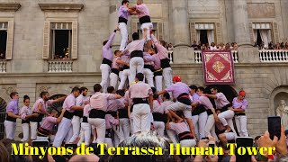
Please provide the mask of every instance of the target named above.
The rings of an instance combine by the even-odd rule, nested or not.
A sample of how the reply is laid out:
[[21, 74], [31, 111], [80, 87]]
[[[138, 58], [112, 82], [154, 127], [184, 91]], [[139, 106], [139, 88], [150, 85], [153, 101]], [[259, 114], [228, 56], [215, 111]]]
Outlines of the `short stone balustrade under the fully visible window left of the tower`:
[[72, 70], [72, 60], [51, 60], [48, 62], [49, 73], [70, 73]]

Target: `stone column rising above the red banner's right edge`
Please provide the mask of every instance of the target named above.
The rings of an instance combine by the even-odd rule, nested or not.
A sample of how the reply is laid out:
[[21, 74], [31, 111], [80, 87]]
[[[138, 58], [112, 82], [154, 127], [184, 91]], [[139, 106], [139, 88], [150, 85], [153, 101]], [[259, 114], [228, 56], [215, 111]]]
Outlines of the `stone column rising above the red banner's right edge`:
[[235, 41], [238, 43], [240, 63], [259, 62], [258, 51], [253, 48], [250, 40], [247, 0], [233, 0], [233, 26]]

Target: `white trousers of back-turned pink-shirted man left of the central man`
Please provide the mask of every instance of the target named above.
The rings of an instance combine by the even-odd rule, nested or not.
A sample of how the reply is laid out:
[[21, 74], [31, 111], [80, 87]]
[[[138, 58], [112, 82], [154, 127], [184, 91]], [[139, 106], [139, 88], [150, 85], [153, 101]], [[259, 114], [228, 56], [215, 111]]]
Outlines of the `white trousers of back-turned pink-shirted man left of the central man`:
[[88, 118], [89, 124], [94, 126], [97, 131], [97, 143], [104, 143], [105, 141], [105, 132], [106, 132], [106, 121], [101, 118]]

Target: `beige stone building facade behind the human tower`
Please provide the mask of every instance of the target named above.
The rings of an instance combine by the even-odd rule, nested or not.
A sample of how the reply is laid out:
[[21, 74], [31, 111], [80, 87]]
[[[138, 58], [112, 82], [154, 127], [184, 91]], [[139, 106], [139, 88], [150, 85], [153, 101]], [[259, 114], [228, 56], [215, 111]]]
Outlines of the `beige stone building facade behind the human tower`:
[[[266, 117], [275, 114], [280, 100], [288, 102], [288, 51], [281, 51], [281, 57], [273, 51], [263, 54], [251, 44], [258, 30], [266, 30], [268, 40], [288, 41], [288, 1], [144, 2], [157, 39], [174, 44], [173, 73], [187, 84], [207, 87], [199, 52], [188, 47], [199, 40], [202, 30], [209, 31], [210, 40], [217, 43], [238, 42], [236, 85], [221, 88], [230, 95], [241, 89], [247, 92], [248, 132], [252, 136], [263, 133]], [[130, 5], [134, 4], [136, 0], [131, 0]], [[42, 90], [50, 95], [69, 94], [73, 86], [84, 85], [92, 92], [93, 85], [101, 81], [102, 42], [116, 27], [120, 5], [121, 0], [0, 0], [0, 31], [7, 32], [5, 60], [0, 60], [0, 103], [8, 103], [12, 91], [19, 92], [21, 107], [24, 94], [31, 97], [32, 104]], [[130, 35], [139, 31], [136, 16], [130, 18], [128, 28]], [[68, 31], [67, 60], [54, 59], [55, 37], [62, 29]], [[113, 48], [119, 44], [118, 33]], [[21, 130], [20, 123], [18, 126]]]

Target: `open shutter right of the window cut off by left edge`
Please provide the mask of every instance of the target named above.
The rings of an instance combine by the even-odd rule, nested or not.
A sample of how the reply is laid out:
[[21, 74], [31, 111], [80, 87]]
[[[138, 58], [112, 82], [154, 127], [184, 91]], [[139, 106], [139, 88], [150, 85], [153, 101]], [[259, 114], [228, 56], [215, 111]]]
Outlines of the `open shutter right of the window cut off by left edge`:
[[14, 21], [9, 21], [7, 30], [6, 59], [12, 59], [13, 38], [14, 38]]

